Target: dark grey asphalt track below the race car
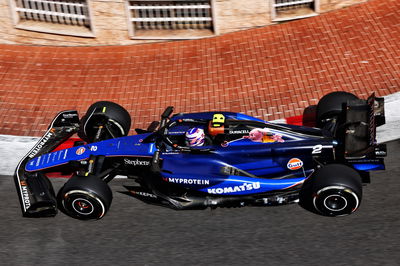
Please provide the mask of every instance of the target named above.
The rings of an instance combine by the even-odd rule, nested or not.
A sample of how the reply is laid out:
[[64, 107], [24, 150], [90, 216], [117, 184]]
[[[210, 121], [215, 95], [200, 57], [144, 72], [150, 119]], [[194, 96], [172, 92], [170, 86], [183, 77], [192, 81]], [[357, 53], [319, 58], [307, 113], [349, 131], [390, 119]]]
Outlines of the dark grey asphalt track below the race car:
[[[360, 209], [322, 217], [297, 204], [203, 211], [148, 205], [117, 191], [99, 221], [22, 218], [0, 176], [1, 265], [399, 265], [400, 140], [372, 174]], [[58, 189], [63, 179], [53, 179]]]

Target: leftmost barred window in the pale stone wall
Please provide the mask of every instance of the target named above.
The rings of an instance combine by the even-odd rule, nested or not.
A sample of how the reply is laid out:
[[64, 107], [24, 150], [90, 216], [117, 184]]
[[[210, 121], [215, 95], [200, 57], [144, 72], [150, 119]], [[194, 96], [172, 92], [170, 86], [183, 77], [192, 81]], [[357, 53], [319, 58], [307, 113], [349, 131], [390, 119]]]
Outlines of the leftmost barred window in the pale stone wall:
[[86, 0], [10, 0], [16, 28], [94, 37]]

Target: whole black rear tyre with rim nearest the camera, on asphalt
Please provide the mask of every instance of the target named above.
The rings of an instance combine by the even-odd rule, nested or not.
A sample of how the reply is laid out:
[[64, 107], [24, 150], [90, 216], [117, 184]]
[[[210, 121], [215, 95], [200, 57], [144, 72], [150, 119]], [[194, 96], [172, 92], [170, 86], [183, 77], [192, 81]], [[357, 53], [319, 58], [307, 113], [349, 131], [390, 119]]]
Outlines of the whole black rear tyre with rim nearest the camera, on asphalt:
[[344, 216], [355, 212], [361, 203], [360, 175], [342, 164], [330, 164], [313, 176], [312, 206], [324, 216]]

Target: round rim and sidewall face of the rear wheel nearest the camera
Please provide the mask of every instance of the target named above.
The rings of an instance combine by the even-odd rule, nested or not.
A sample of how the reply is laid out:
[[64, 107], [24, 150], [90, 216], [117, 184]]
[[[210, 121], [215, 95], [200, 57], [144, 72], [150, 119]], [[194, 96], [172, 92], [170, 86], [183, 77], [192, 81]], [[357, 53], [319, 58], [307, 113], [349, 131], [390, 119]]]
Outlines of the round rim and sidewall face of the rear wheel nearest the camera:
[[317, 211], [327, 216], [349, 215], [357, 210], [360, 199], [351, 189], [328, 186], [320, 189], [313, 198]]

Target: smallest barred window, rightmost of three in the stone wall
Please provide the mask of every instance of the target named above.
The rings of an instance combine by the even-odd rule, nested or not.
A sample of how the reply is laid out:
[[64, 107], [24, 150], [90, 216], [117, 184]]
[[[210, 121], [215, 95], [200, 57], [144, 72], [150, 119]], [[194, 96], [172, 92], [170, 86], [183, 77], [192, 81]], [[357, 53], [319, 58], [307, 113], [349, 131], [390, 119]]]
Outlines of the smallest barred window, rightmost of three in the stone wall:
[[286, 21], [318, 15], [319, 0], [270, 0], [272, 21]]

